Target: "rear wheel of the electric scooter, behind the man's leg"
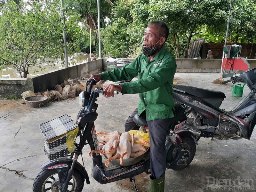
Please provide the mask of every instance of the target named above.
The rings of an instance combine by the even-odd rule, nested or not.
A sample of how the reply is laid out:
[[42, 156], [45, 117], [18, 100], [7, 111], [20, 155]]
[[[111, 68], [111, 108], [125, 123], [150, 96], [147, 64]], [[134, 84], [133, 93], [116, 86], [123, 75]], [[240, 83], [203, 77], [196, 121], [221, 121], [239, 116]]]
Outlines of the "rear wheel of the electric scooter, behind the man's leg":
[[194, 156], [196, 154], [196, 143], [191, 137], [183, 137], [182, 142], [180, 143], [181, 146], [186, 150], [189, 154], [188, 159], [179, 159], [178, 153], [179, 150], [174, 145], [172, 145], [167, 153], [166, 162], [167, 162], [167, 168], [173, 169], [173, 170], [182, 170], [185, 167], [187, 167], [192, 160], [194, 159]]

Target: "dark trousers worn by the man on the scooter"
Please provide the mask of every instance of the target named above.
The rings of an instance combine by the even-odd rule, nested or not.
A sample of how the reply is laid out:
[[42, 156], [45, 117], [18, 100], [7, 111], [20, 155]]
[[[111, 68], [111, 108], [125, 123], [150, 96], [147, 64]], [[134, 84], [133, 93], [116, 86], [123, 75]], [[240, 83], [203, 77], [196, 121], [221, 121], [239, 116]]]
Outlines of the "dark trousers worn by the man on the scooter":
[[[136, 108], [132, 115], [128, 117], [124, 124], [125, 131], [139, 130], [140, 126], [133, 122], [133, 116], [138, 113]], [[166, 154], [164, 150], [166, 135], [169, 131], [171, 118], [156, 119], [148, 122], [150, 140], [150, 169], [151, 179], [156, 179], [164, 175], [166, 169]]]

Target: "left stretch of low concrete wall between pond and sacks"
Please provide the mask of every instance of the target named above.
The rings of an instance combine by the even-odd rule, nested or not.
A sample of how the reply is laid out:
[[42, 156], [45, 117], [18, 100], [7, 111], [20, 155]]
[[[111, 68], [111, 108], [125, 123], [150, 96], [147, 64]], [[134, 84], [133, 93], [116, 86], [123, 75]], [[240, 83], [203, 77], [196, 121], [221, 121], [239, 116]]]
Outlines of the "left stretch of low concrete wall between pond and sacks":
[[53, 90], [64, 80], [88, 77], [91, 73], [102, 71], [102, 68], [102, 59], [98, 59], [35, 77], [0, 78], [0, 99], [21, 99], [21, 93], [25, 91], [37, 93]]

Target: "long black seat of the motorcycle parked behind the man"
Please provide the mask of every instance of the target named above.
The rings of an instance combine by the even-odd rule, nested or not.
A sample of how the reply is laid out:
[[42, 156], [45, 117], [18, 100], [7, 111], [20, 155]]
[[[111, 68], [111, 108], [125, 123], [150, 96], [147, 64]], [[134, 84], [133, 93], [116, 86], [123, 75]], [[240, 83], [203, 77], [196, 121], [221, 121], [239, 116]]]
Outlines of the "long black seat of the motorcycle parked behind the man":
[[173, 85], [172, 87], [199, 98], [226, 98], [226, 95], [221, 91], [213, 91], [186, 85]]

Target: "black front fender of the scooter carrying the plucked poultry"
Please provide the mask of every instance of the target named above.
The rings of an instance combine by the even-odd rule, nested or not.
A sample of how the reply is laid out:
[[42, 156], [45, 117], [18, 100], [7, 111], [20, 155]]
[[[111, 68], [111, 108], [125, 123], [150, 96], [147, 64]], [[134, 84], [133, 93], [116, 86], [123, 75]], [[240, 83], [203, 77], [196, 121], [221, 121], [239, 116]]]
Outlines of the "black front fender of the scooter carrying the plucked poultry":
[[[59, 175], [61, 172], [67, 172], [68, 168], [71, 167], [73, 159], [68, 157], [60, 157], [58, 159], [50, 160], [40, 166], [40, 169], [58, 169]], [[83, 165], [76, 162], [75, 169], [78, 170], [85, 178], [86, 183], [90, 184], [89, 176]], [[63, 170], [63, 171], [62, 171]]]

